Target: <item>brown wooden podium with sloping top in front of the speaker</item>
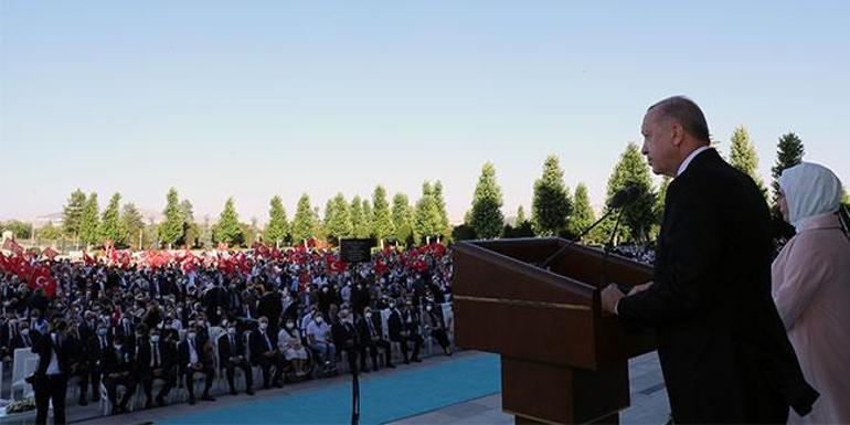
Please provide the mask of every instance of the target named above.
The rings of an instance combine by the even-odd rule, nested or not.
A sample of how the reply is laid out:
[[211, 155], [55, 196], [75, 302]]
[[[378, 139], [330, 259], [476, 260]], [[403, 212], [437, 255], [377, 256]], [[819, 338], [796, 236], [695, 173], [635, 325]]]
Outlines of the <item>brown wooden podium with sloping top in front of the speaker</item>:
[[[628, 362], [655, 350], [603, 316], [603, 253], [562, 238], [458, 243], [453, 299], [458, 346], [501, 354], [502, 410], [517, 424], [618, 423], [629, 405]], [[637, 285], [652, 268], [608, 256], [608, 281]]]

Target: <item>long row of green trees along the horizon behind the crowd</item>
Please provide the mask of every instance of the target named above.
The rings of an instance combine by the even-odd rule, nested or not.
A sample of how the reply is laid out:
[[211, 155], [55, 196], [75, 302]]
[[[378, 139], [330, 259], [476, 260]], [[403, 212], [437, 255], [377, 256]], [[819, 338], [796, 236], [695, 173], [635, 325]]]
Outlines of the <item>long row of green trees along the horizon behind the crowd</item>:
[[[803, 160], [804, 146], [797, 135], [788, 132], [779, 138], [776, 162], [772, 168], [773, 184], [768, 191], [757, 173], [758, 156], [747, 130], [736, 128], [730, 139], [727, 160], [732, 166], [750, 174], [763, 189], [772, 205], [775, 217], [779, 219], [776, 196], [777, 179], [783, 170]], [[615, 236], [618, 243], [646, 243], [657, 235], [663, 214], [663, 199], [668, 179], [656, 187], [651, 170], [639, 147], [631, 142], [614, 167], [608, 179], [606, 199], [618, 190], [635, 185], [644, 196], [628, 208]], [[850, 203], [847, 194], [844, 202]], [[378, 185], [369, 198], [354, 195], [348, 200], [342, 193], [329, 199], [323, 215], [312, 205], [308, 194], [298, 200], [294, 217], [288, 220], [280, 196], [269, 201], [268, 221], [265, 229], [256, 219], [249, 223], [240, 220], [233, 198], [224, 204], [219, 220], [198, 223], [193, 216], [192, 203], [180, 200], [178, 191], [170, 189], [166, 196], [164, 219], [153, 223], [131, 202], [121, 203], [121, 194], [115, 193], [106, 209], [98, 209], [97, 193], [86, 195], [81, 190], [71, 193], [63, 210], [61, 229], [49, 226], [39, 233], [45, 237], [66, 237], [83, 245], [98, 245], [114, 241], [118, 246], [132, 248], [148, 247], [210, 247], [219, 242], [230, 246], [249, 246], [257, 240], [269, 245], [304, 243], [317, 238], [336, 244], [346, 237], [372, 237], [379, 245], [429, 243], [447, 238], [493, 238], [520, 236], [574, 237], [596, 221], [587, 187], [577, 183], [574, 192], [564, 181], [564, 170], [556, 156], [543, 162], [542, 174], [533, 183], [530, 215], [520, 205], [513, 220], [502, 212], [502, 193], [496, 178], [496, 168], [487, 162], [475, 188], [471, 208], [464, 223], [451, 226], [446, 213], [446, 203], [440, 181], [425, 181], [415, 204], [404, 193], [395, 193], [390, 200], [386, 190]], [[603, 209], [601, 213], [607, 210]], [[585, 237], [588, 243], [603, 243], [613, 232], [614, 220], [601, 225]]]

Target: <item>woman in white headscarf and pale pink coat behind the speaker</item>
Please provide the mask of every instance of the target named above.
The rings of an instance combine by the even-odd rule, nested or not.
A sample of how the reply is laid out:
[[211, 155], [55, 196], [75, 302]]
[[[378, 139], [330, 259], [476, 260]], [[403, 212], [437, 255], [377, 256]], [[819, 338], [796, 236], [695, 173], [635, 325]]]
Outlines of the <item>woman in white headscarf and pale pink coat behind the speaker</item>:
[[841, 183], [803, 162], [779, 177], [783, 217], [797, 234], [773, 264], [773, 297], [803, 374], [820, 399], [789, 423], [850, 423], [850, 236], [839, 220]]

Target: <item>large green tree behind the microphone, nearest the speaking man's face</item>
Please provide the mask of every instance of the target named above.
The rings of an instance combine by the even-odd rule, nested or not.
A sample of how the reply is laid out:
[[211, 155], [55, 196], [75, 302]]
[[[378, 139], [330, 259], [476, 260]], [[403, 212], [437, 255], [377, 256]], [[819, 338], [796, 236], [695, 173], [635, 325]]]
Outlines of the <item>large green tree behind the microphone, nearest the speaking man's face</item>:
[[[623, 221], [620, 222], [620, 232], [618, 232], [617, 238], [638, 243], [647, 242], [652, 223], [656, 221], [652, 211], [655, 193], [649, 164], [640, 153], [638, 146], [634, 142], [628, 144], [619, 162], [614, 167], [610, 179], [608, 179], [606, 205], [615, 193], [626, 187], [636, 187], [639, 191], [639, 196], [623, 211]], [[612, 214], [612, 221], [614, 215], [616, 214]], [[607, 227], [604, 229], [607, 230]]]

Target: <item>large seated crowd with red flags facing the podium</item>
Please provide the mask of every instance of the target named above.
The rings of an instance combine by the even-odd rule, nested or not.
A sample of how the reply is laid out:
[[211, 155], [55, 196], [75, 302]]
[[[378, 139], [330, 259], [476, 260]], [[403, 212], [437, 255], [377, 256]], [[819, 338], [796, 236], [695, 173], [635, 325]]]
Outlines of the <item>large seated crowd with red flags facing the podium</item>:
[[219, 374], [231, 394], [243, 381], [251, 395], [331, 375], [341, 359], [352, 371], [395, 368], [395, 343], [404, 363], [421, 361], [427, 338], [451, 354], [443, 305], [453, 265], [442, 245], [384, 249], [352, 265], [325, 249], [188, 255], [152, 264], [44, 261], [54, 297], [0, 270], [0, 358], [8, 363], [14, 350], [38, 353], [40, 341], [51, 341], [78, 378], [71, 381], [78, 403], [98, 401], [103, 387], [117, 414], [139, 386], [146, 408], [169, 403], [176, 387], [194, 404], [195, 380], [200, 399], [214, 401]]

